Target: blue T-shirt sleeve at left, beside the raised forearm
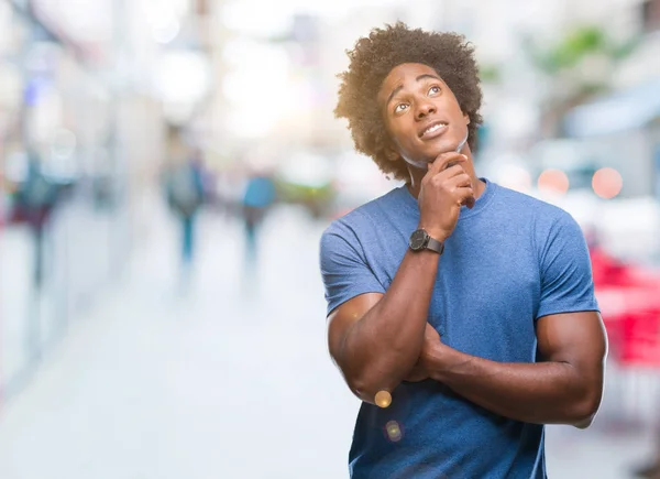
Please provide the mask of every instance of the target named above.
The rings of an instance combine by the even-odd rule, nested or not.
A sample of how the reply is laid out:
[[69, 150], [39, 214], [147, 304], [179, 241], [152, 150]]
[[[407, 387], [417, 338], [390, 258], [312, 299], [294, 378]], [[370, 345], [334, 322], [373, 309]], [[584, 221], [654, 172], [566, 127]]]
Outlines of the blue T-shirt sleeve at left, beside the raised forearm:
[[361, 251], [362, 246], [350, 228], [331, 226], [323, 232], [320, 266], [328, 314], [361, 294], [385, 293]]

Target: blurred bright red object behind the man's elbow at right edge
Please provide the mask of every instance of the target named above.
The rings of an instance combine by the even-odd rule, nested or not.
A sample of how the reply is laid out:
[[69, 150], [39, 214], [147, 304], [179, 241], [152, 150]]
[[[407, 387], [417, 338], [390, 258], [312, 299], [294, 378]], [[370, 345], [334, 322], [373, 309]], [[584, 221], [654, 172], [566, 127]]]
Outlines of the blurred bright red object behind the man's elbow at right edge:
[[623, 366], [660, 368], [660, 273], [591, 249], [596, 297], [610, 356]]

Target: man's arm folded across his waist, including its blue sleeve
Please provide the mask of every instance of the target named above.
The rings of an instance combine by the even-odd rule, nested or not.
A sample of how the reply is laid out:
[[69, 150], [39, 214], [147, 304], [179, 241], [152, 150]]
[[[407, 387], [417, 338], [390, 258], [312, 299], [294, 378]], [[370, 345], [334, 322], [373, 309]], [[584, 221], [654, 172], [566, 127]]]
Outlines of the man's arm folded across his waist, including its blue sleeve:
[[435, 345], [432, 375], [494, 413], [530, 423], [586, 427], [601, 402], [607, 352], [588, 250], [580, 226], [565, 213], [538, 218], [535, 230], [541, 281], [536, 336], [541, 362], [488, 361], [436, 339], [430, 341]]

